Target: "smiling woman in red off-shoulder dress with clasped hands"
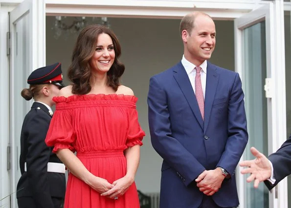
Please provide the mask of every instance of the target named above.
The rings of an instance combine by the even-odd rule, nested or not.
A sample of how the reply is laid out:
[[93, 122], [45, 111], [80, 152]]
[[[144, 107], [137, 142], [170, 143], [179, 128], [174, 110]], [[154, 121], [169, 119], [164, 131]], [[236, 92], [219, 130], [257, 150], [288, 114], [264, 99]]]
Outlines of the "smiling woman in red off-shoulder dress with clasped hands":
[[[139, 208], [134, 176], [142, 138], [134, 92], [120, 85], [120, 44], [109, 28], [85, 27], [45, 143], [69, 170], [65, 208]], [[76, 155], [74, 152], [76, 151]]]

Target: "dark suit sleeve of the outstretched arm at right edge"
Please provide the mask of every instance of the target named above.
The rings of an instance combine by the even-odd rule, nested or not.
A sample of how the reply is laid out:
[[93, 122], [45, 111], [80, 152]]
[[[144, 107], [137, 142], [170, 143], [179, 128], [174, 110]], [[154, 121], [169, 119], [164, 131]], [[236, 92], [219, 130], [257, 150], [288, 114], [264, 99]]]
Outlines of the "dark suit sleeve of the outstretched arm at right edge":
[[275, 153], [269, 155], [269, 160], [274, 168], [276, 182], [273, 185], [268, 181], [264, 182], [269, 190], [271, 190], [286, 176], [291, 174], [291, 135]]

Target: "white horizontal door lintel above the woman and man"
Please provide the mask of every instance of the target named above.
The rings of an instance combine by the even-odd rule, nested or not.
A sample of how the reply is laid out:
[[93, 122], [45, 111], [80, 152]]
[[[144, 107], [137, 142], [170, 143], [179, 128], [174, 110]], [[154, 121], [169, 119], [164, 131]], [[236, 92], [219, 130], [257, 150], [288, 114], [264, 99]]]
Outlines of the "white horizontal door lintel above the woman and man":
[[[180, 19], [199, 10], [216, 20], [233, 20], [267, 2], [253, 0], [45, 0], [47, 16], [106, 16], [131, 18]], [[76, 6], [77, 5], [77, 6]]]

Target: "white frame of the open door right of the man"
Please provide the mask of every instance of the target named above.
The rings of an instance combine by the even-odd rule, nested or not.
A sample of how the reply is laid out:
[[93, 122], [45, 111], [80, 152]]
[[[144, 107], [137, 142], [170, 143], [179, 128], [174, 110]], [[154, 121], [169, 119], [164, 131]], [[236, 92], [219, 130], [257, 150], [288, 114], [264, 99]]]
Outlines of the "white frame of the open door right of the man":
[[[243, 29], [262, 20], [266, 21], [267, 78], [272, 79], [273, 91], [268, 103], [268, 149], [275, 152], [287, 139], [286, 135], [286, 89], [285, 89], [285, 44], [284, 44], [284, 5], [274, 0], [263, 8], [235, 20], [235, 69], [244, 79]], [[283, 21], [282, 21], [283, 20]], [[244, 80], [243, 80], [244, 82]], [[243, 155], [244, 158], [244, 155]], [[242, 168], [239, 167], [238, 171]], [[238, 176], [239, 197], [244, 203], [244, 177]], [[288, 207], [288, 185], [284, 179], [272, 192], [269, 192], [270, 208]], [[244, 204], [241, 204], [244, 207]]]

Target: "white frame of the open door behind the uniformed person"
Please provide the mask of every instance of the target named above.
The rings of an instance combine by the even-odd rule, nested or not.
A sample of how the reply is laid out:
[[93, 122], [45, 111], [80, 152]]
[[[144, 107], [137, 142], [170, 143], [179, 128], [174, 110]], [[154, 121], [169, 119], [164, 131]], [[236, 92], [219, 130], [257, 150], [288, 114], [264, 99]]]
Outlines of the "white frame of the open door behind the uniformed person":
[[[20, 131], [21, 126], [15, 126], [15, 108], [17, 104], [14, 101], [15, 96], [15, 80], [13, 79], [17, 74], [17, 68], [15, 68], [16, 60], [16, 26], [15, 24], [22, 19], [22, 17], [28, 15], [28, 34], [29, 34], [29, 55], [28, 55], [28, 68], [25, 70], [32, 72], [36, 68], [45, 65], [45, 4], [43, 0], [24, 0], [18, 6], [15, 7], [10, 12], [10, 35], [11, 35], [11, 45], [10, 45], [10, 105], [9, 105], [9, 124], [10, 124], [10, 145], [11, 145], [11, 169], [10, 169], [10, 192], [15, 193], [16, 186], [18, 183], [18, 175], [20, 175], [19, 167], [19, 156], [20, 156], [20, 146], [17, 146], [15, 138], [15, 129], [18, 128]], [[22, 34], [18, 34], [22, 36]], [[26, 73], [25, 73], [26, 74]], [[26, 80], [26, 77], [23, 77]], [[26, 109], [26, 112], [28, 109]], [[23, 120], [22, 115], [19, 115], [20, 120]], [[16, 162], [17, 161], [17, 162]], [[11, 196], [11, 207], [17, 207], [16, 194]]]

